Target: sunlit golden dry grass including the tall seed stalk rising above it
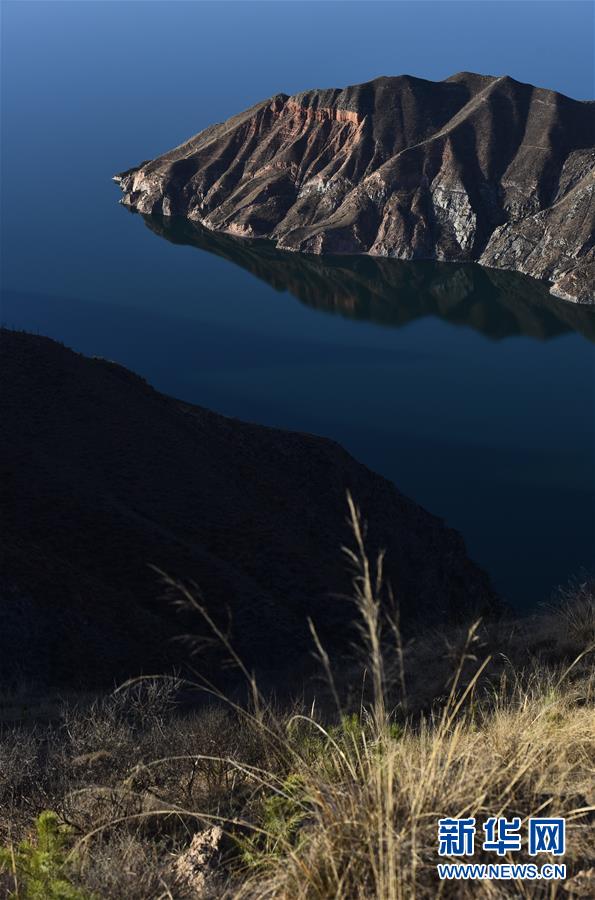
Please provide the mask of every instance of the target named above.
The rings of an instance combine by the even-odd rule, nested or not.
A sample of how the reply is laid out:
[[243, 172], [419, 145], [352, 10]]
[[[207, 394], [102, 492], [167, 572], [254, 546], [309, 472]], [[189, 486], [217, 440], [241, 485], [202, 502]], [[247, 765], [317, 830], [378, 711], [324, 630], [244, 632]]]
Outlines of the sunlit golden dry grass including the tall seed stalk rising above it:
[[[348, 555], [369, 661], [371, 700], [338, 734], [313, 717], [304, 717], [312, 733], [322, 735], [321, 752], [313, 758], [298, 752], [286, 782], [298, 785], [297, 791], [294, 787], [284, 792], [278, 780], [269, 783], [271, 791], [281, 791], [289, 810], [287, 821], [297, 816], [301, 827], [289, 828], [284, 840], [277, 837], [274, 852], [270, 841], [265, 842], [268, 852], [255, 856], [256, 871], [238, 896], [300, 900], [554, 896], [556, 885], [530, 882], [440, 883], [437, 821], [445, 816], [474, 816], [479, 821], [491, 815], [519, 816], [522, 822], [535, 815], [564, 816], [569, 827], [568, 869], [572, 873], [588, 868], [595, 837], [595, 678], [593, 638], [585, 623], [592, 621], [593, 593], [582, 587], [574, 615], [572, 598], [566, 594], [549, 623], [565, 624], [562, 639], [568, 633], [574, 639], [579, 652], [570, 665], [534, 662], [519, 671], [501, 655], [504, 667], [497, 677], [490, 656], [477, 661], [477, 623], [460, 648], [445, 701], [429, 714], [395, 727], [402, 719], [398, 711], [388, 712], [391, 693], [380, 613], [382, 559], [373, 573], [364, 553], [358, 512], [353, 505], [350, 510], [356, 549]], [[509, 646], [518, 650], [514, 637], [509, 632]], [[400, 641], [393, 657], [403, 691], [407, 651]], [[401, 694], [402, 707], [410, 706], [406, 699]], [[261, 824], [266, 825], [266, 817]], [[521, 858], [513, 854], [506, 861]], [[485, 854], [482, 859], [480, 853], [473, 861], [493, 860]]]

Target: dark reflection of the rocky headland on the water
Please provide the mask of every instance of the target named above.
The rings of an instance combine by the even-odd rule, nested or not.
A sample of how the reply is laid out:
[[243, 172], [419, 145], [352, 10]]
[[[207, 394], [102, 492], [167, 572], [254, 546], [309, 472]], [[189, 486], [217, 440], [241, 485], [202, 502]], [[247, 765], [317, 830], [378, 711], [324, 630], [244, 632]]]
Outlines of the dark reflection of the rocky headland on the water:
[[290, 253], [185, 219], [142, 218], [160, 237], [223, 257], [323, 312], [394, 328], [437, 316], [493, 340], [548, 340], [574, 331], [595, 341], [595, 310], [558, 300], [545, 283], [516, 272], [474, 263]]

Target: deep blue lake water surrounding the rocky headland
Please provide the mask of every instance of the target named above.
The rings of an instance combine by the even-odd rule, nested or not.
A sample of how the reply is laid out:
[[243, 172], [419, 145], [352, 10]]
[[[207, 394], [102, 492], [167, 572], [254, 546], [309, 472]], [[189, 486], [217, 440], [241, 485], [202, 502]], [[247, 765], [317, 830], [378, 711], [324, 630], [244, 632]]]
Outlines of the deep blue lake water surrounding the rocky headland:
[[[4, 4], [2, 321], [228, 415], [335, 438], [460, 529], [505, 596], [543, 600], [593, 566], [595, 315], [506, 273], [287, 258], [119, 206], [114, 172], [330, 82], [324, 31], [301, 76], [289, 51], [280, 73], [250, 67], [239, 39], [235, 69], [225, 43], [192, 56], [201, 22], [185, 28], [181, 8], [201, 5]], [[242, 21], [256, 40], [258, 16]], [[371, 37], [368, 69], [358, 57], [349, 78], [343, 54], [332, 81], [378, 74]], [[413, 71], [378, 47], [380, 70]]]

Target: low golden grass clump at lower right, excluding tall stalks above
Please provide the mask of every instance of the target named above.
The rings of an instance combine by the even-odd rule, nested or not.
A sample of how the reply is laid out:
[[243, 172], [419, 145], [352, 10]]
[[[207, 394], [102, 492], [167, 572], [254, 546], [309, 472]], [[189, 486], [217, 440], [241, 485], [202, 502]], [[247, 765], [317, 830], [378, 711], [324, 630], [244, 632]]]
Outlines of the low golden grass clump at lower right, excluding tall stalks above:
[[[300, 840], [264, 856], [245, 886], [251, 897], [410, 898], [532, 896], [519, 884], [442, 885], [436, 879], [437, 821], [443, 816], [564, 815], [570, 870], [593, 847], [593, 685], [570, 693], [536, 672], [511, 698], [499, 694], [394, 737], [387, 727], [355, 730], [323, 759], [304, 762]], [[479, 859], [476, 858], [474, 861]], [[489, 861], [484, 857], [484, 861]], [[513, 859], [518, 861], [518, 859]]]

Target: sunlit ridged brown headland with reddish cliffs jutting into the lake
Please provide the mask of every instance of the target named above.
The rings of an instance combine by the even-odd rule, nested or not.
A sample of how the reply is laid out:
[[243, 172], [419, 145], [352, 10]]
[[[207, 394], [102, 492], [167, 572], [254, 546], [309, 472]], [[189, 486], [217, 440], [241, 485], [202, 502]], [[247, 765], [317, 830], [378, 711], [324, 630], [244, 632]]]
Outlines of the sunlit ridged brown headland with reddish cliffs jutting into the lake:
[[468, 72], [277, 94], [115, 176], [123, 202], [304, 253], [475, 260], [595, 302], [595, 104]]

